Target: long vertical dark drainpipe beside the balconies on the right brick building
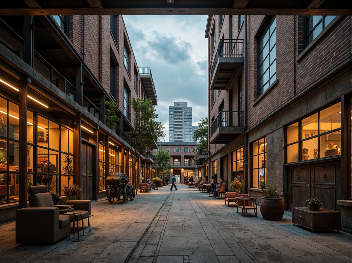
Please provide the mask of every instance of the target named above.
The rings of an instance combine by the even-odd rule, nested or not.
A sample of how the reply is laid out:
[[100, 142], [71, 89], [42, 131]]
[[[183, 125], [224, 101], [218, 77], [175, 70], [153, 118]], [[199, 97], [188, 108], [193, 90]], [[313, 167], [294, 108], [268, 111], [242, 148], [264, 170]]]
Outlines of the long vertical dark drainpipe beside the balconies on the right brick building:
[[[248, 155], [248, 136], [247, 136], [247, 15], [244, 16], [244, 154], [245, 154], [245, 160], [244, 162], [246, 163], [245, 169], [244, 169], [244, 178], [246, 179], [245, 181], [245, 189], [248, 187], [248, 160], [249, 160], [249, 155]], [[247, 192], [247, 191], [245, 191]]]

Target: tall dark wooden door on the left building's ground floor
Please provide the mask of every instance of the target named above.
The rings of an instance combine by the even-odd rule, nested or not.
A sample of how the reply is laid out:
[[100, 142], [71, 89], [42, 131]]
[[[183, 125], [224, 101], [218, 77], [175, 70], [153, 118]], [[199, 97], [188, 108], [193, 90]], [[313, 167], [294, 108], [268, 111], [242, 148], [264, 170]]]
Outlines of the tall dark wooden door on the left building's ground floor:
[[81, 199], [92, 200], [93, 199], [93, 181], [94, 181], [94, 147], [82, 142], [81, 146], [81, 186], [83, 190], [81, 192]]

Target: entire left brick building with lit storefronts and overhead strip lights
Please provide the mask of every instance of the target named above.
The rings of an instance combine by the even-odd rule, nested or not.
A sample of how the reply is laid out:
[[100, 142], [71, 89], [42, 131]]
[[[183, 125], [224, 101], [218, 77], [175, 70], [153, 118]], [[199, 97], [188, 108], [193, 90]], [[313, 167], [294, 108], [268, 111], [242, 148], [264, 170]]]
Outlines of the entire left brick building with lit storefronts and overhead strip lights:
[[[134, 182], [130, 101], [157, 96], [150, 68], [138, 68], [122, 16], [0, 17], [0, 222], [27, 206], [27, 178], [63, 195], [105, 197], [105, 177], [122, 172]], [[27, 96], [28, 95], [28, 96]], [[119, 121], [105, 109], [113, 106]], [[73, 156], [74, 174], [63, 172]], [[137, 167], [155, 176], [149, 149]]]

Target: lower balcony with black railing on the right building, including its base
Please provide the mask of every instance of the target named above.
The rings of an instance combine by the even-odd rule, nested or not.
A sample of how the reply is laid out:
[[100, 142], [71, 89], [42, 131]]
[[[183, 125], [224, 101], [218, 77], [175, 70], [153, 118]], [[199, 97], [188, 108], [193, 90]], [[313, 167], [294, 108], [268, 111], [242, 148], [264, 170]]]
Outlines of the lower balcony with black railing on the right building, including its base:
[[243, 111], [220, 111], [210, 126], [210, 144], [225, 144], [243, 133]]

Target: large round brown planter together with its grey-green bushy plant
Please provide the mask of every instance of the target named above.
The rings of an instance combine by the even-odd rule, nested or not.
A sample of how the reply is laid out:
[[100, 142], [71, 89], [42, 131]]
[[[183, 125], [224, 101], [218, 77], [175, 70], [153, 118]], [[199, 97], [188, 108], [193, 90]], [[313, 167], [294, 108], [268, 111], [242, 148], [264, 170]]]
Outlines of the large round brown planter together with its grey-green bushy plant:
[[270, 184], [265, 186], [264, 179], [261, 179], [259, 186], [264, 193], [264, 197], [262, 197], [262, 202], [260, 203], [260, 213], [263, 218], [266, 220], [281, 220], [285, 207], [282, 198], [278, 195], [278, 184], [271, 181]]

